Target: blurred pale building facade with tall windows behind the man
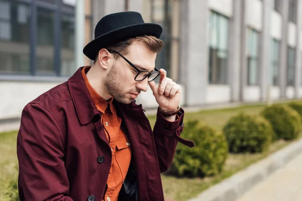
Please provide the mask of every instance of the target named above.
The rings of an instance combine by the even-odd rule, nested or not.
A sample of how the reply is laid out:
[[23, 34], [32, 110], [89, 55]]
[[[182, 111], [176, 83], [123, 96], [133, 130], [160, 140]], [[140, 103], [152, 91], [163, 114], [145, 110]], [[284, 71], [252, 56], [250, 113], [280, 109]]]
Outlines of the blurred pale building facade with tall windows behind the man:
[[[91, 64], [93, 28], [121, 11], [163, 26], [156, 66], [183, 106], [302, 97], [302, 0], [1, 0], [0, 124]], [[137, 102], [157, 107], [150, 90]]]

